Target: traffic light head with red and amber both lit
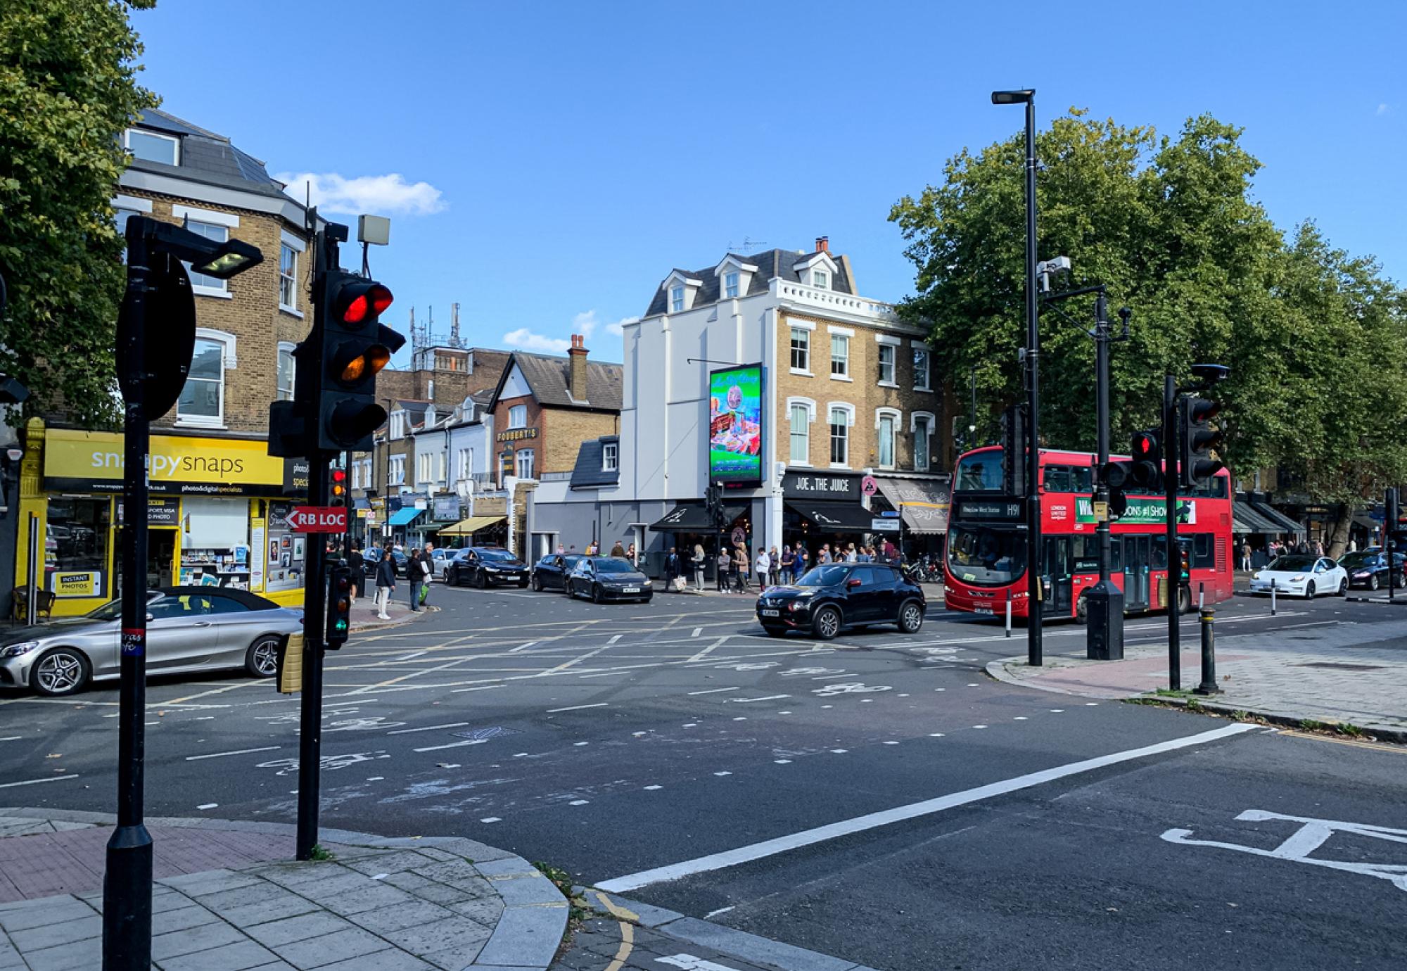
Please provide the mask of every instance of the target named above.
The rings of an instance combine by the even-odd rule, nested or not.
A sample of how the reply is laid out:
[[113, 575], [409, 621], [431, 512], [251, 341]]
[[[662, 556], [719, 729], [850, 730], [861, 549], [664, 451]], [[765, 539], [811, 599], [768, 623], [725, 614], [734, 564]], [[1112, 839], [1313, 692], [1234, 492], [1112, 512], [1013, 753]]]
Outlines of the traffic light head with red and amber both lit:
[[322, 452], [370, 452], [371, 432], [386, 422], [386, 408], [376, 401], [376, 374], [405, 343], [380, 322], [391, 291], [355, 273], [329, 270], [321, 296], [315, 443]]

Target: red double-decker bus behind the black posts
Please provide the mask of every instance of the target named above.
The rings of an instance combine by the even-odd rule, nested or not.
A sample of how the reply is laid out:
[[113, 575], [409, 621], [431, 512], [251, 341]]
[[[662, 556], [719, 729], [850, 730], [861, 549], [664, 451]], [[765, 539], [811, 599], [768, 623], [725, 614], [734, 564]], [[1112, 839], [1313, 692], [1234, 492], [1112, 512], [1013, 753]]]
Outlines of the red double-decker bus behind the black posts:
[[[1127, 457], [1127, 456], [1114, 456]], [[1095, 456], [1041, 449], [1041, 616], [1085, 618], [1083, 592], [1099, 583], [1095, 533]], [[943, 563], [947, 607], [1012, 616], [1029, 612], [1024, 500], [1002, 493], [1002, 449], [964, 453], [953, 476], [953, 509]], [[1110, 526], [1110, 580], [1124, 591], [1124, 612], [1168, 607], [1166, 498], [1128, 494], [1128, 508]], [[1225, 469], [1178, 497], [1178, 545], [1189, 581], [1173, 584], [1189, 611], [1200, 594], [1214, 604], [1231, 597], [1231, 478]], [[1178, 578], [1180, 580], [1179, 559]]]

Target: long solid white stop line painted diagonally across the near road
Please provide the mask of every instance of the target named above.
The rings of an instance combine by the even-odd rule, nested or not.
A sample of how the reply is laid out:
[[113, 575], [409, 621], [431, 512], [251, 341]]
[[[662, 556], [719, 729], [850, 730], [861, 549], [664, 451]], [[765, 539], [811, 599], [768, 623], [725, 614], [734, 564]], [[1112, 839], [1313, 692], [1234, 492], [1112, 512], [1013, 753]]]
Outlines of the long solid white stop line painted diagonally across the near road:
[[843, 819], [840, 822], [829, 823], [826, 826], [817, 826], [815, 829], [802, 830], [799, 833], [791, 833], [788, 836], [778, 836], [777, 839], [763, 840], [761, 843], [741, 846], [737, 847], [736, 850], [712, 853], [705, 857], [685, 860], [684, 863], [674, 863], [667, 867], [642, 870], [640, 872], [628, 874], [625, 877], [616, 877], [613, 880], [606, 880], [604, 882], [595, 884], [595, 887], [598, 889], [606, 891], [608, 894], [623, 894], [625, 891], [639, 889], [640, 887], [649, 887], [650, 884], [660, 884], [670, 880], [680, 880], [682, 877], [709, 872], [712, 870], [723, 870], [726, 867], [736, 867], [740, 863], [750, 863], [753, 860], [761, 860], [764, 857], [775, 856], [778, 853], [796, 850], [803, 846], [812, 846], [815, 843], [822, 843], [825, 840], [833, 840], [840, 836], [861, 833], [868, 829], [875, 829], [877, 826], [888, 826], [889, 823], [902, 822], [905, 819], [927, 816], [936, 812], [943, 812], [944, 809], [953, 809], [954, 806], [964, 806], [971, 802], [991, 799], [992, 797], [1006, 795], [1007, 792], [1016, 792], [1019, 789], [1027, 789], [1036, 785], [1043, 785], [1045, 782], [1052, 782], [1058, 778], [1067, 778], [1069, 775], [1078, 775], [1081, 773], [1103, 768], [1106, 766], [1117, 766], [1119, 763], [1131, 761], [1134, 759], [1144, 759], [1147, 756], [1157, 756], [1164, 751], [1175, 751], [1178, 749], [1186, 749], [1189, 746], [1217, 742], [1220, 739], [1225, 739], [1233, 735], [1241, 735], [1242, 732], [1251, 732], [1258, 728], [1259, 728], [1258, 725], [1238, 722], [1235, 725], [1227, 725], [1224, 728], [1213, 729], [1210, 732], [1200, 732], [1197, 735], [1189, 735], [1180, 739], [1169, 739], [1168, 742], [1158, 742], [1157, 744], [1144, 746], [1141, 749], [1128, 749], [1126, 751], [1114, 751], [1107, 756], [1096, 756], [1095, 759], [1085, 759], [1082, 761], [1075, 761], [1065, 766], [1057, 766], [1054, 768], [1043, 768], [1038, 773], [1017, 775], [1014, 778], [1003, 780], [1000, 782], [991, 782], [988, 785], [979, 785], [974, 789], [964, 789], [962, 792], [940, 795], [936, 799], [912, 802], [906, 806], [895, 806], [893, 809], [884, 809], [881, 812], [871, 812], [864, 816], [855, 816], [853, 819]]

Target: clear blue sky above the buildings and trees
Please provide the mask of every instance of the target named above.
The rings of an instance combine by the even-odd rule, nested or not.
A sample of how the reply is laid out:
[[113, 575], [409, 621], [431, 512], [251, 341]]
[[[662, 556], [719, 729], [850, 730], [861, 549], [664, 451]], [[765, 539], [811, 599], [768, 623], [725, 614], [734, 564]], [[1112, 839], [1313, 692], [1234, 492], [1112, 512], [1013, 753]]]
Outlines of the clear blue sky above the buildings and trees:
[[[391, 215], [384, 318], [460, 304], [478, 346], [619, 360], [673, 266], [829, 235], [861, 293], [913, 290], [891, 204], [1016, 131], [998, 87], [1175, 134], [1245, 128], [1255, 197], [1407, 279], [1407, 4], [180, 3], [134, 24], [163, 107], [273, 173]], [[1352, 10], [1349, 15], [1346, 11]], [[1031, 14], [1027, 14], [1031, 15]], [[229, 72], [229, 73], [227, 73]], [[355, 217], [333, 214], [332, 218]], [[355, 263], [355, 256], [345, 256]]]

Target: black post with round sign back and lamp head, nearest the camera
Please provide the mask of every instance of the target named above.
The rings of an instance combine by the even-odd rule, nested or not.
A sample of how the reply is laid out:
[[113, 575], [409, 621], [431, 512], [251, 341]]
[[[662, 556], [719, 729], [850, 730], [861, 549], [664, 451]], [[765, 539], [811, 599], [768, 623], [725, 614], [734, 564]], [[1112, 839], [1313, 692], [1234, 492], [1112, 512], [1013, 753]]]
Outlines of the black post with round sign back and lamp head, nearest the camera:
[[[103, 968], [152, 965], [152, 836], [142, 822], [146, 709], [146, 463], [149, 417], [180, 397], [196, 349], [196, 300], [183, 260], [228, 280], [263, 260], [239, 239], [215, 242], [184, 227], [127, 221], [127, 291], [117, 321], [117, 380], [125, 402], [121, 683], [117, 718], [117, 826], [103, 878]], [[148, 318], [160, 326], [146, 341]]]

